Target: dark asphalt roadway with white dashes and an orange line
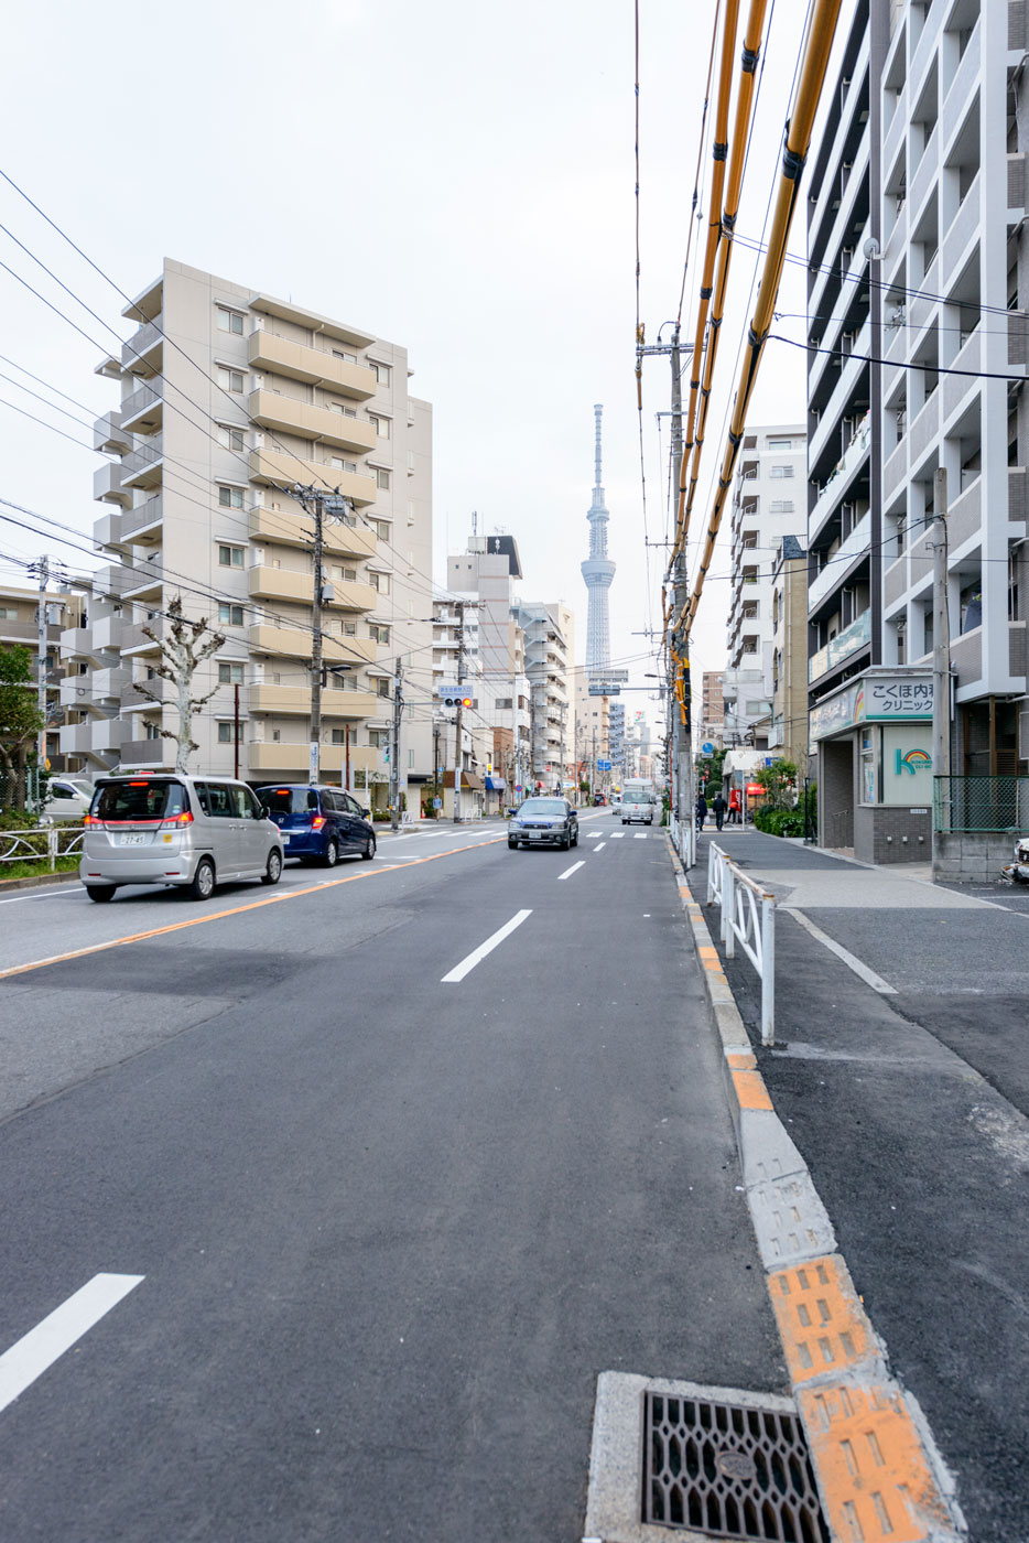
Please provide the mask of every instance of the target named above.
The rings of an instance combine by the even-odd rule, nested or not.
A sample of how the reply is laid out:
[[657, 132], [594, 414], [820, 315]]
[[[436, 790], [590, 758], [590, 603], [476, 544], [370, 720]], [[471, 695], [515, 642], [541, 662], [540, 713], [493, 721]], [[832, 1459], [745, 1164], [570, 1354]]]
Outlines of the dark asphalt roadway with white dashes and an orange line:
[[665, 838], [605, 815], [3, 904], [5, 1543], [572, 1540], [599, 1372], [785, 1390]]

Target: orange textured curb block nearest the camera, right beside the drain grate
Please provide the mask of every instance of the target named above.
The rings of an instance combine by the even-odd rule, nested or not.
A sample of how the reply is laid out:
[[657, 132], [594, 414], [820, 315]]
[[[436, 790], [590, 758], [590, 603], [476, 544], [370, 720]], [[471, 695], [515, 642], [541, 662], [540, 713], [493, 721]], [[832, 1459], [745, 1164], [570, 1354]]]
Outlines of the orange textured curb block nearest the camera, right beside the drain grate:
[[955, 1535], [896, 1386], [804, 1387], [798, 1404], [833, 1538], [918, 1543]]

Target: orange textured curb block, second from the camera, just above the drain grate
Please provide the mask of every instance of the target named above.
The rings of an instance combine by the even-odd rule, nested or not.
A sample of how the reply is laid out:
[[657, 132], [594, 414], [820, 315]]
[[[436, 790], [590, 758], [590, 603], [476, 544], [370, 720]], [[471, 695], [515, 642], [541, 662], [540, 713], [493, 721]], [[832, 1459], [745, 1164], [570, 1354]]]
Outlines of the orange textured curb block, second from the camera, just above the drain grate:
[[839, 1254], [773, 1270], [768, 1290], [793, 1383], [847, 1372], [878, 1353], [872, 1325]]

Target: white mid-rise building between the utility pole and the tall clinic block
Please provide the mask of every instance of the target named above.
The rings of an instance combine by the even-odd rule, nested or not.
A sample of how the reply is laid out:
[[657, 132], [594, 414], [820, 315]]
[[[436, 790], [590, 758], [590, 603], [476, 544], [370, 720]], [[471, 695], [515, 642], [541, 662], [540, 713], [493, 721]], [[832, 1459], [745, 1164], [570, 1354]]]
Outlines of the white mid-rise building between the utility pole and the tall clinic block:
[[753, 741], [771, 710], [771, 565], [784, 535], [804, 532], [802, 424], [748, 427], [733, 488], [733, 593], [722, 671], [727, 745]]

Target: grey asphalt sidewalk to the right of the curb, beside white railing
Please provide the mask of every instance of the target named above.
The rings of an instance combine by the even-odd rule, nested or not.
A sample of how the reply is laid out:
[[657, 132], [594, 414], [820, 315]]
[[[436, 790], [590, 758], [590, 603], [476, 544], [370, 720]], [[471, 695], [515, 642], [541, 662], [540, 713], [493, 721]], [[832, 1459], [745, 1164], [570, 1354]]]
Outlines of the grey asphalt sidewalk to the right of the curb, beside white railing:
[[711, 839], [776, 895], [774, 1049], [722, 964], [893, 1372], [975, 1543], [1029, 1538], [1029, 915], [753, 829], [700, 838], [702, 906]]

